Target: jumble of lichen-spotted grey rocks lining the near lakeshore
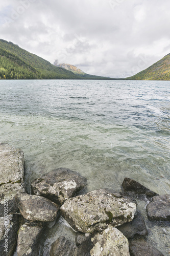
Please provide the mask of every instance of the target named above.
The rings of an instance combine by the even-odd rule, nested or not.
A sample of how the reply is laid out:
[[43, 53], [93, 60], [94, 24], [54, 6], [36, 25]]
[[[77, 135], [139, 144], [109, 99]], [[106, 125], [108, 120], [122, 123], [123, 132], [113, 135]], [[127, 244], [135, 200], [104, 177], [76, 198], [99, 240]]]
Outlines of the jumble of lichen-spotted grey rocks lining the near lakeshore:
[[[125, 178], [122, 192], [97, 189], [87, 193], [87, 179], [58, 168], [36, 179], [31, 194], [24, 183], [23, 152], [0, 143], [0, 251], [2, 256], [163, 255], [147, 242], [148, 230], [137, 201], [147, 202], [148, 220], [170, 221], [170, 195], [157, 195]], [[40, 252], [42, 236], [62, 216], [76, 233]], [[16, 249], [17, 247], [17, 249]]]

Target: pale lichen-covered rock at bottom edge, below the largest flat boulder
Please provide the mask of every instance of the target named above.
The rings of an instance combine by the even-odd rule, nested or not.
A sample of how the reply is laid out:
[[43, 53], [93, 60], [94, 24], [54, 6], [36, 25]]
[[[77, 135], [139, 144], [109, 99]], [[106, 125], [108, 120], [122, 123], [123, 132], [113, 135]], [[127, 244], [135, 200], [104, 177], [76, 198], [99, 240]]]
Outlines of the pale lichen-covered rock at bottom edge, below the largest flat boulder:
[[130, 256], [128, 239], [117, 228], [108, 227], [103, 232], [95, 234], [91, 241], [91, 256]]

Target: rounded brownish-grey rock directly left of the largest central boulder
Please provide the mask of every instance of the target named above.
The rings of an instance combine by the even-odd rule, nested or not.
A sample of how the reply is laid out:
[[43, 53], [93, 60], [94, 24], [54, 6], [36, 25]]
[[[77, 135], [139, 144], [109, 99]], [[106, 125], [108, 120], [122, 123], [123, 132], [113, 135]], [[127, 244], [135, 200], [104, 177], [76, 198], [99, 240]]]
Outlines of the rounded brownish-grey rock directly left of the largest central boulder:
[[25, 194], [15, 199], [23, 218], [29, 221], [54, 221], [58, 216], [59, 206], [46, 198]]

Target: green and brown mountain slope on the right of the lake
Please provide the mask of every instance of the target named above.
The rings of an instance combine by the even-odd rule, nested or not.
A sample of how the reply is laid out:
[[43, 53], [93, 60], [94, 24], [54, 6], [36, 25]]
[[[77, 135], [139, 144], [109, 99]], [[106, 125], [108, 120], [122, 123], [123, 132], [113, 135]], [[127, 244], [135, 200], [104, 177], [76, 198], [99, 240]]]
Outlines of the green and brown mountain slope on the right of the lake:
[[170, 53], [161, 60], [154, 63], [134, 76], [125, 78], [126, 80], [170, 80]]

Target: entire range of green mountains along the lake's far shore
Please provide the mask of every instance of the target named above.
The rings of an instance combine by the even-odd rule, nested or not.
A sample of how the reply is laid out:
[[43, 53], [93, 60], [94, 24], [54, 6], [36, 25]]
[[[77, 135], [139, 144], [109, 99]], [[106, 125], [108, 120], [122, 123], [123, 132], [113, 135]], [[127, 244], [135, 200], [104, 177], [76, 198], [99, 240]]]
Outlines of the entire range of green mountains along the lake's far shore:
[[[55, 65], [57, 63], [55, 62]], [[57, 66], [57, 67], [56, 67]], [[77, 67], [49, 61], [0, 39], [0, 79], [106, 79], [84, 73]], [[121, 80], [170, 80], [170, 53], [138, 74]]]

